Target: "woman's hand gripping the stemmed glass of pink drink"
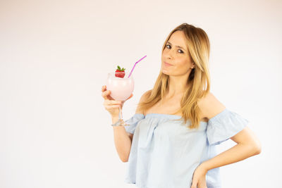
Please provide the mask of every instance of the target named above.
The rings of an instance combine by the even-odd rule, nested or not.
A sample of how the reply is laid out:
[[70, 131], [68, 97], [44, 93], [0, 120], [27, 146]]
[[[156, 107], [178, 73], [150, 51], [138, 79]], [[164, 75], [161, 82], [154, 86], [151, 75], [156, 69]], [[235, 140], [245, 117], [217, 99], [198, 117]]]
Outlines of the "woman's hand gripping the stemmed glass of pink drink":
[[102, 86], [102, 97], [104, 98], [104, 107], [106, 111], [109, 111], [112, 117], [118, 116], [118, 113], [119, 113], [118, 107], [121, 106], [121, 109], [122, 109], [124, 102], [130, 99], [133, 96], [133, 94], [131, 94], [128, 97], [128, 99], [126, 99], [125, 101], [116, 101], [110, 96], [110, 94], [111, 94], [111, 91], [106, 90], [106, 85], [103, 85]]

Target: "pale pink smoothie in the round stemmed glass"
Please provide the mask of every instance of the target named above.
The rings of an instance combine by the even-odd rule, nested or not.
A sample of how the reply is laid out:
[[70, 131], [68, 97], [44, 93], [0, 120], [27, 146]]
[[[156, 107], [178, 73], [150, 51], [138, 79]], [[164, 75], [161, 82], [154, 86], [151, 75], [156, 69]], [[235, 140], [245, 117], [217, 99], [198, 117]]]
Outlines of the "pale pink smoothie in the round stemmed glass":
[[106, 80], [106, 89], [111, 91], [110, 96], [116, 101], [125, 101], [134, 90], [134, 80], [131, 75], [128, 78], [128, 73], [125, 73], [123, 78], [115, 77], [115, 73], [109, 73]]

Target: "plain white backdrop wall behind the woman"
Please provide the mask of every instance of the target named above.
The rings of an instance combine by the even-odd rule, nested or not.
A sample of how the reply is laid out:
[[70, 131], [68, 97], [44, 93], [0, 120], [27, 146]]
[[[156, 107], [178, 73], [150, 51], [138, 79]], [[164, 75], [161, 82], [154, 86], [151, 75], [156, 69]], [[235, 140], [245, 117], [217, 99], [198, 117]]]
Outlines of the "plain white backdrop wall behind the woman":
[[280, 0], [0, 1], [0, 187], [135, 187], [123, 183], [101, 88], [147, 55], [123, 106], [130, 118], [181, 23], [207, 32], [212, 93], [262, 142], [258, 156], [221, 167], [223, 187], [281, 187], [281, 10]]

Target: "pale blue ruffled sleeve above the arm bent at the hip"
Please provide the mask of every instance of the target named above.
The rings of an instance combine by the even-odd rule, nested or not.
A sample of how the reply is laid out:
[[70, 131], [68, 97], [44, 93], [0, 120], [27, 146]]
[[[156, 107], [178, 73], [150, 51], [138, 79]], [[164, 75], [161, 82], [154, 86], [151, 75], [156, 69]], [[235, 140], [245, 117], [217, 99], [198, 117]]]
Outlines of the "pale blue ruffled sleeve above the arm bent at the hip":
[[243, 130], [248, 123], [249, 120], [225, 108], [208, 121], [207, 139], [209, 145], [221, 144], [221, 142], [228, 140]]

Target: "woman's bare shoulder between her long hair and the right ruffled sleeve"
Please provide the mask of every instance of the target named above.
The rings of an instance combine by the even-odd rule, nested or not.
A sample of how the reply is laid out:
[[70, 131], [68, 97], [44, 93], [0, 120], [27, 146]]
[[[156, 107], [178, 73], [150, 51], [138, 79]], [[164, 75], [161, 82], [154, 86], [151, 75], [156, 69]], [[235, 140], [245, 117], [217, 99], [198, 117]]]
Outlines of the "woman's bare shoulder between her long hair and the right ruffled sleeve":
[[211, 92], [198, 101], [198, 106], [204, 118], [208, 119], [213, 118], [226, 108]]

